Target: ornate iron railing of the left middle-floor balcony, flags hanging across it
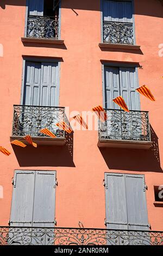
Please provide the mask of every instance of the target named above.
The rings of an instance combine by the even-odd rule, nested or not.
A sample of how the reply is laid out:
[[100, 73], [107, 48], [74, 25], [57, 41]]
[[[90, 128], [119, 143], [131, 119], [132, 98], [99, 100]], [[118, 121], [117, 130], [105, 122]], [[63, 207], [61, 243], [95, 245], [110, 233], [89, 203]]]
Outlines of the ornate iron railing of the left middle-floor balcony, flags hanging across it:
[[56, 126], [59, 121], [63, 120], [67, 122], [64, 107], [14, 105], [12, 136], [47, 137], [39, 132], [47, 128], [57, 138], [65, 138], [65, 131]]

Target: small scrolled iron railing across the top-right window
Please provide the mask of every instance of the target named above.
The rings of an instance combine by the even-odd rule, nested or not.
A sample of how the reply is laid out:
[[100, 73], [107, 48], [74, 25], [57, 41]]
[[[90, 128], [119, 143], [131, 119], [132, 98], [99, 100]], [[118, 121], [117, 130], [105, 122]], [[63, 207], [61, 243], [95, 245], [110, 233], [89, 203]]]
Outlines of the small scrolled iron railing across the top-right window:
[[133, 45], [133, 23], [104, 21], [103, 42], [109, 44]]

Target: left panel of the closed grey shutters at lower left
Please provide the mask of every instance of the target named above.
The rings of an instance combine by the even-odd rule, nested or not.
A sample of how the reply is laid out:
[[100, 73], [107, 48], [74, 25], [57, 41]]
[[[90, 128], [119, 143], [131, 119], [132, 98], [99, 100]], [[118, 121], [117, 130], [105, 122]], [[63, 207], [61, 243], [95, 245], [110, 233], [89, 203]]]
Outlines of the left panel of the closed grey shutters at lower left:
[[10, 215], [11, 226], [32, 226], [34, 182], [34, 172], [15, 171]]

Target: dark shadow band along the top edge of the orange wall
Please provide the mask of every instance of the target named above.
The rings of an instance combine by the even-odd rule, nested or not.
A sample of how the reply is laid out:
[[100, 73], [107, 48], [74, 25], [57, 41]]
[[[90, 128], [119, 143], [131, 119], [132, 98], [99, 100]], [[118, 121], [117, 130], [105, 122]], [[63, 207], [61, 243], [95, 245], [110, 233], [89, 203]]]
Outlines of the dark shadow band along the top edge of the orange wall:
[[[77, 10], [91, 10], [91, 11], [101, 11], [101, 1], [102, 0], [61, 0], [61, 8], [71, 9], [74, 15], [77, 15]], [[93, 3], [92, 3], [93, 2]], [[148, 2], [148, 5], [147, 5]], [[162, 0], [136, 0], [134, 1], [135, 14], [136, 15], [146, 15], [153, 17], [163, 17], [162, 11]], [[141, 4], [141, 7], [140, 7]], [[26, 6], [26, 0], [1, 0], [0, 7], [5, 9], [5, 5], [22, 5]], [[154, 8], [155, 6], [155, 8]], [[78, 16], [78, 15], [77, 15]]]

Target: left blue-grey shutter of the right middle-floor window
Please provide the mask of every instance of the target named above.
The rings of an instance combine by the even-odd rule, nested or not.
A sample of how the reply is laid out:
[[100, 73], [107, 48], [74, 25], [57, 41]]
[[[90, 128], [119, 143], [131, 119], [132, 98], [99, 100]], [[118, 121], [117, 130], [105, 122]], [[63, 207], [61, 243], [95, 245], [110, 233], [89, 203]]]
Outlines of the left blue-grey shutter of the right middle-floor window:
[[120, 96], [120, 75], [119, 68], [105, 66], [104, 68], [104, 83], [105, 83], [105, 108], [120, 109], [120, 107], [112, 101], [117, 96]]

